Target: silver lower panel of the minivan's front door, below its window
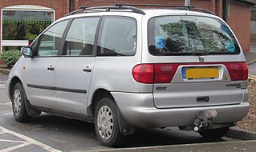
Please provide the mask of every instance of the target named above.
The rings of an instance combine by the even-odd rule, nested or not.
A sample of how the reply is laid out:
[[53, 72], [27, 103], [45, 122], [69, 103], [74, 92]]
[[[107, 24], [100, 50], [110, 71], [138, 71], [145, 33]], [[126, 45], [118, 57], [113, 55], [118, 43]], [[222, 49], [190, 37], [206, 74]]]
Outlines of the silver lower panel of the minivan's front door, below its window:
[[[23, 87], [30, 103], [35, 106], [56, 107], [56, 94], [52, 89], [55, 85], [55, 70], [47, 70], [47, 67], [55, 67], [57, 58], [24, 58], [26, 61], [26, 81]], [[32, 86], [31, 86], [32, 85]], [[49, 89], [40, 89], [45, 86]]]

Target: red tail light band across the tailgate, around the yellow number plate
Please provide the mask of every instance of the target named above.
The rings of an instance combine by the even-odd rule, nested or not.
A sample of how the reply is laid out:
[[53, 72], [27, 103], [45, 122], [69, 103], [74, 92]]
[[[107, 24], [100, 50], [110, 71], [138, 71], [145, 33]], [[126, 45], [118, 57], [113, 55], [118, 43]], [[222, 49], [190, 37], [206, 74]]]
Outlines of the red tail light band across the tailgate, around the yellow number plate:
[[173, 80], [177, 68], [181, 65], [213, 65], [223, 64], [230, 73], [231, 81], [242, 81], [248, 78], [248, 66], [246, 62], [208, 62], [208, 63], [177, 63], [177, 64], [139, 64], [132, 69], [132, 76], [136, 82], [170, 83]]

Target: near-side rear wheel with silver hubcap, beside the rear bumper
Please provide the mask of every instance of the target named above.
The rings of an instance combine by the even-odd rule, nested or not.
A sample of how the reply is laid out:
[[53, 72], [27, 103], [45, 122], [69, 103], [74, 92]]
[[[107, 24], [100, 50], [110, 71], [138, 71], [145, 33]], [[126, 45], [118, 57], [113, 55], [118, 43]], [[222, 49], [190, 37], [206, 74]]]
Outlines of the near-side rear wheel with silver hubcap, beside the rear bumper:
[[124, 136], [120, 134], [116, 106], [111, 98], [102, 98], [95, 110], [95, 133], [104, 146], [120, 146]]

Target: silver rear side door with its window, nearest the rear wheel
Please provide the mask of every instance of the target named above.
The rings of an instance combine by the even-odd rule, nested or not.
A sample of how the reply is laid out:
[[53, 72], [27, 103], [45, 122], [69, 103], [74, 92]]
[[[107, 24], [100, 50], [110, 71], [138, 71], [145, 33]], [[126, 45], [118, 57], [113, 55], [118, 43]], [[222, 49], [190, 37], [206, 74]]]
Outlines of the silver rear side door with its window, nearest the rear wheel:
[[58, 110], [86, 114], [99, 17], [75, 18], [67, 32], [63, 56], [55, 71]]

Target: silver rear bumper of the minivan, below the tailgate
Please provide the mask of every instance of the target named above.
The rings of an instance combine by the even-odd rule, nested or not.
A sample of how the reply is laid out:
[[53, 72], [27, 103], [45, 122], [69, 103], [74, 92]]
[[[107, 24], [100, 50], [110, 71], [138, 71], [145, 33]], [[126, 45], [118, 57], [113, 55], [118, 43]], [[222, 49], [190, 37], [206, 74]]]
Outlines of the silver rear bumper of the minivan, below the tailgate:
[[112, 92], [121, 114], [132, 126], [142, 128], [167, 126], [193, 126], [197, 112], [217, 110], [213, 123], [237, 122], [246, 117], [250, 104], [248, 90], [243, 90], [244, 98], [240, 104], [224, 106], [202, 106], [187, 108], [157, 109], [153, 105], [152, 94], [132, 94]]

